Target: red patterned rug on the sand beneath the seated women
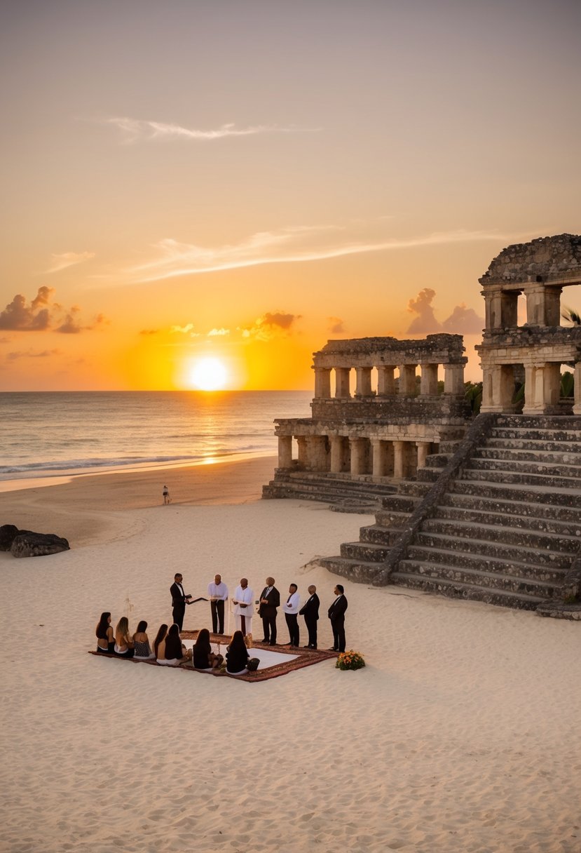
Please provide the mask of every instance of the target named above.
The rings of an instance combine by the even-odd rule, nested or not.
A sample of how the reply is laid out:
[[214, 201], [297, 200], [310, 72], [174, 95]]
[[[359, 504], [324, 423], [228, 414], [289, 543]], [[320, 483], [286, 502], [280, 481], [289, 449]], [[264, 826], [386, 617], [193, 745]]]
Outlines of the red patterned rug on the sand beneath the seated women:
[[[181, 631], [181, 639], [182, 640], [192, 640], [195, 641], [198, 636], [198, 631]], [[210, 634], [210, 642], [212, 643], [220, 643], [221, 647], [226, 647], [227, 643], [230, 641], [230, 637], [222, 634]], [[285, 655], [293, 655], [292, 659], [286, 659], [281, 663], [275, 663], [273, 665], [268, 665], [264, 669], [261, 669], [260, 665], [256, 672], [246, 672], [244, 676], [233, 676], [229, 672], [221, 671], [221, 670], [194, 670], [192, 666], [192, 662], [188, 661], [186, 664], [180, 664], [179, 666], [164, 666], [164, 670], [182, 670], [184, 672], [197, 672], [201, 676], [214, 676], [215, 678], [234, 678], [239, 682], [267, 682], [271, 678], [278, 678], [279, 676], [285, 676], [288, 672], [294, 672], [295, 670], [302, 670], [304, 666], [312, 666], [313, 664], [320, 664], [323, 660], [336, 659], [337, 652], [327, 652], [322, 649], [314, 649], [314, 648], [291, 648], [288, 646], [267, 646], [266, 643], [254, 642], [253, 648], [263, 649], [268, 652], [278, 652], [280, 654]], [[250, 657], [252, 657], [252, 648], [249, 650]], [[123, 656], [118, 654], [109, 654], [105, 652], [94, 652], [89, 651], [89, 654], [94, 654], [98, 658], [115, 658], [117, 660], [124, 660]], [[126, 658], [132, 664], [149, 664], [150, 666], [159, 666], [157, 661], [155, 660], [135, 660], [133, 658]]]

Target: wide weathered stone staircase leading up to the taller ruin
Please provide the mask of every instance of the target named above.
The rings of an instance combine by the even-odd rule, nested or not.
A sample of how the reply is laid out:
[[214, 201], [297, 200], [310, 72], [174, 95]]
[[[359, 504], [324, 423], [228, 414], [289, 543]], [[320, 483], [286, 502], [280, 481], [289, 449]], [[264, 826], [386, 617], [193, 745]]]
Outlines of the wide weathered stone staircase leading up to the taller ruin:
[[[498, 415], [429, 508], [402, 559], [391, 560], [388, 583], [441, 595], [535, 609], [562, 598], [581, 560], [581, 418]], [[437, 482], [429, 457], [417, 481], [402, 483], [359, 543], [323, 565], [354, 580], [383, 583], [386, 561], [405, 528], [404, 506], [422, 506]]]

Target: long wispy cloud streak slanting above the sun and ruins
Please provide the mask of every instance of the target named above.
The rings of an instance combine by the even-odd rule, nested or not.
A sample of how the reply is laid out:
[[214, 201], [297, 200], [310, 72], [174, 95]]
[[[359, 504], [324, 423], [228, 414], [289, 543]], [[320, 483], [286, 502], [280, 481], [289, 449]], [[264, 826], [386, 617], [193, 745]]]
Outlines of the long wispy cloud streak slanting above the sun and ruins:
[[278, 231], [260, 231], [239, 243], [219, 247], [203, 247], [167, 238], [154, 244], [156, 258], [121, 270], [115, 274], [114, 281], [128, 284], [158, 281], [260, 264], [293, 264], [365, 252], [510, 239], [507, 235], [488, 231], [457, 230], [408, 239], [346, 240], [346, 232], [345, 227], [336, 225], [298, 225]]

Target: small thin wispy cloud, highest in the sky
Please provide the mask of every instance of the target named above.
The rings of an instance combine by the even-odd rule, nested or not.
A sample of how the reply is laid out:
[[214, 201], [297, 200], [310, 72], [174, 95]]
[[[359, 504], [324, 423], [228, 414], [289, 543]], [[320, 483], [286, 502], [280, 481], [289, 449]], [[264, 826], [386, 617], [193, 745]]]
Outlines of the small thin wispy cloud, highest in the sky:
[[256, 136], [260, 133], [312, 133], [319, 128], [296, 127], [294, 125], [248, 125], [237, 127], [233, 122], [226, 125], [202, 131], [192, 127], [183, 127], [164, 121], [147, 121], [131, 119], [128, 116], [118, 116], [104, 119], [107, 125], [114, 125], [122, 133], [125, 144], [148, 140], [189, 139], [194, 142], [224, 139], [226, 136]]

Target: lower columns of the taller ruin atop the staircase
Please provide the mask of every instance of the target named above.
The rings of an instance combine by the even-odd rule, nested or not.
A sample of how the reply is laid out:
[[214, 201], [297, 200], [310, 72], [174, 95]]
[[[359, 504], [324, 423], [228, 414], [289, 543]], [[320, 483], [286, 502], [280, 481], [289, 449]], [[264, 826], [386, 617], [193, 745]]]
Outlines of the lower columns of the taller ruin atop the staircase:
[[[515, 369], [512, 364], [482, 368], [482, 412], [509, 412], [514, 409]], [[581, 415], [581, 362], [575, 365], [573, 414]], [[523, 415], [542, 415], [559, 403], [561, 364], [541, 362], [525, 365]]]

